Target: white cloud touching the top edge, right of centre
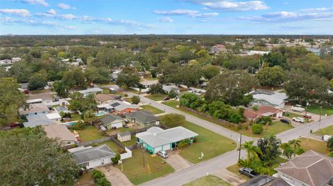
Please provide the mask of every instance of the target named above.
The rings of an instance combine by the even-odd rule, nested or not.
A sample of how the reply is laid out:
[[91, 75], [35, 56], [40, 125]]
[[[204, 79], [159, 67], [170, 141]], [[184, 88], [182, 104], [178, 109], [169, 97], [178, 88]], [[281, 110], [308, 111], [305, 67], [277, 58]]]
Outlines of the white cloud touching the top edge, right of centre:
[[266, 10], [269, 7], [263, 1], [232, 1], [232, 0], [188, 0], [212, 10], [248, 11]]

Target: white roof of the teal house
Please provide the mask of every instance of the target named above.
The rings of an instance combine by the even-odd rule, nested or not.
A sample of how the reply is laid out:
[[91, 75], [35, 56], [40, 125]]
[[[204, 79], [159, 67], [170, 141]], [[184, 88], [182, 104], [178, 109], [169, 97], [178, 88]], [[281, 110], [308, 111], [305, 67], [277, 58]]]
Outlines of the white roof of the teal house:
[[198, 133], [184, 127], [174, 127], [167, 130], [161, 129], [160, 127], [151, 127], [147, 131], [135, 135], [135, 137], [143, 140], [151, 147], [160, 147], [161, 145], [179, 142], [195, 136], [198, 136]]

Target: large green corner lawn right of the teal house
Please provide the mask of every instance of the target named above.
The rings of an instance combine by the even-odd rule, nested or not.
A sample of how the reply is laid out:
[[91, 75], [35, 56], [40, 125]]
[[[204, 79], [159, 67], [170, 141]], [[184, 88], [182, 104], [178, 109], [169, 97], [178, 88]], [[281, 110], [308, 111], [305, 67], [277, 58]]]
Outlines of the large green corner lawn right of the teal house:
[[237, 147], [236, 142], [233, 140], [194, 123], [185, 121], [181, 126], [199, 135], [196, 138], [196, 142], [180, 150], [180, 155], [190, 162], [197, 163], [201, 152], [203, 152], [204, 156], [200, 161], [203, 161], [224, 154]]

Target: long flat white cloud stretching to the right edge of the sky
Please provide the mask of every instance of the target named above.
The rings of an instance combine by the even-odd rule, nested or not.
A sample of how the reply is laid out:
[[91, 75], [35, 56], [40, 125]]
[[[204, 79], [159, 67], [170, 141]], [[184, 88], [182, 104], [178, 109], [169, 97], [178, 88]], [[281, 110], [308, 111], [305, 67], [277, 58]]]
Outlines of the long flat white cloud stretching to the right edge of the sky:
[[298, 13], [298, 12], [272, 12], [257, 17], [239, 17], [248, 21], [259, 22], [278, 22], [278, 21], [300, 21], [300, 20], [325, 20], [333, 19], [332, 12], [310, 12], [310, 13]]

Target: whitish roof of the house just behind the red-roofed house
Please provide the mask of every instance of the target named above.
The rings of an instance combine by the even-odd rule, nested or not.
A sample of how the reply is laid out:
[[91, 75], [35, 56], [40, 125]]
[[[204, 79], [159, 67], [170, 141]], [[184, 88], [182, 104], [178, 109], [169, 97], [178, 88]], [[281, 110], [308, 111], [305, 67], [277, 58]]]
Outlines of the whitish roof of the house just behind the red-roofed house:
[[255, 100], [265, 100], [266, 102], [270, 102], [271, 104], [280, 105], [288, 98], [286, 93], [251, 93], [253, 95], [253, 99]]

